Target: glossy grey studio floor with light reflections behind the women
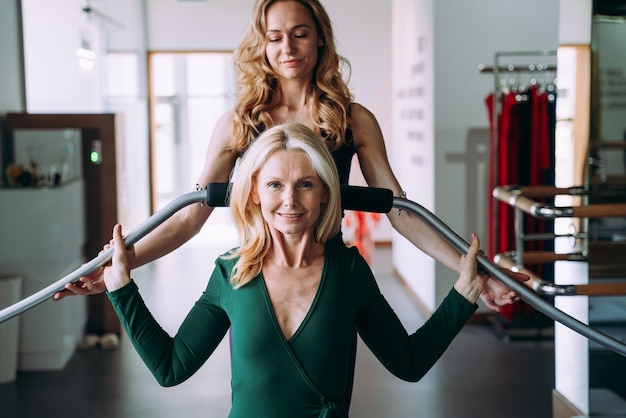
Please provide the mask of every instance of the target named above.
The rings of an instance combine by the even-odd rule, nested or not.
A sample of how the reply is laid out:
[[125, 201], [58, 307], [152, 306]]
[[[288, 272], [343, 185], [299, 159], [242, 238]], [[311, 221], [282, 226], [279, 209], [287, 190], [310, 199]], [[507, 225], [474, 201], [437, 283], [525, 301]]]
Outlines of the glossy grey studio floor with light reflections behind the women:
[[[174, 332], [203, 290], [219, 250], [190, 246], [138, 269], [135, 280], [155, 316]], [[373, 269], [407, 328], [424, 320], [390, 274], [389, 250]], [[467, 325], [418, 383], [388, 373], [359, 346], [353, 418], [549, 418], [554, 386], [550, 341], [504, 342], [489, 325]], [[228, 347], [222, 344], [190, 380], [156, 384], [128, 340], [118, 350], [76, 352], [63, 371], [22, 372], [0, 385], [0, 417], [226, 417], [230, 402]]]

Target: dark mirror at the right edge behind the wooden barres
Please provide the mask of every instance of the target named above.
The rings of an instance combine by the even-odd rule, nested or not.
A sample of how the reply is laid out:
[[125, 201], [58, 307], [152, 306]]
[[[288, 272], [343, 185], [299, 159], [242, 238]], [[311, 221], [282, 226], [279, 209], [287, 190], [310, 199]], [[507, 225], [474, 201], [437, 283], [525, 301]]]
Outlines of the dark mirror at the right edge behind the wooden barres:
[[[626, 202], [626, 1], [594, 0], [591, 25], [590, 204]], [[626, 276], [626, 217], [590, 218], [589, 280]], [[589, 298], [589, 322], [626, 341], [626, 296]], [[590, 344], [589, 387], [626, 399], [626, 359]], [[593, 398], [592, 398], [593, 399]], [[594, 405], [592, 404], [592, 407]], [[600, 407], [598, 405], [598, 407]]]

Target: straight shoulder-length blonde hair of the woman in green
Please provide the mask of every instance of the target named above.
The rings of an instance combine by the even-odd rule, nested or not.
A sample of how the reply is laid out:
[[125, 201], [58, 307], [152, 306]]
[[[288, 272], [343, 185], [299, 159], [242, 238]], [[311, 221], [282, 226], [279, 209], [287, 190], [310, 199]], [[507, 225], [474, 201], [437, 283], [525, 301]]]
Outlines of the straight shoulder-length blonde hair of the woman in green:
[[322, 204], [320, 217], [314, 226], [315, 241], [325, 243], [341, 227], [339, 175], [322, 138], [300, 123], [276, 125], [268, 129], [245, 152], [232, 180], [229, 205], [241, 244], [224, 257], [239, 257], [230, 277], [234, 288], [245, 285], [261, 272], [263, 260], [272, 248], [267, 222], [261, 213], [261, 206], [252, 199], [252, 191], [267, 160], [281, 150], [305, 154], [328, 188], [328, 201]]

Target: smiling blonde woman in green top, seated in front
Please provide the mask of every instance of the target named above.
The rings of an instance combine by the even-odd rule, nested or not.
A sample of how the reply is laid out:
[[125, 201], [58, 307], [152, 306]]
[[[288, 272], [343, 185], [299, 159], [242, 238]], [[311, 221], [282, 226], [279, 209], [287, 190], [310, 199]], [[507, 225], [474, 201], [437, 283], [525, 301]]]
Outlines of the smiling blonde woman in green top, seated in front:
[[[355, 248], [334, 243], [341, 207], [336, 166], [302, 124], [266, 130], [233, 178], [240, 246], [216, 261], [205, 292], [175, 337], [130, 279], [130, 251], [113, 231], [109, 298], [160, 384], [193, 375], [227, 331], [232, 341], [229, 417], [347, 417], [355, 333], [394, 375], [419, 380], [475, 311], [487, 278], [477, 237], [460, 277], [433, 316], [409, 334]], [[108, 246], [105, 246], [105, 249]]]

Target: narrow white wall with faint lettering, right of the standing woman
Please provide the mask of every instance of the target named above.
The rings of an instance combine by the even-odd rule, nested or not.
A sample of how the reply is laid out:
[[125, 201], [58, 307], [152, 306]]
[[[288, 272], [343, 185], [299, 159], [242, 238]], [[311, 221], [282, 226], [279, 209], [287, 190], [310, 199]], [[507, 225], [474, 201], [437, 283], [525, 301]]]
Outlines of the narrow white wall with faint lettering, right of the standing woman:
[[[434, 0], [396, 0], [393, 9], [392, 166], [408, 199], [434, 211]], [[392, 214], [392, 216], [395, 216]], [[436, 308], [435, 262], [393, 234], [393, 266], [425, 308]]]

